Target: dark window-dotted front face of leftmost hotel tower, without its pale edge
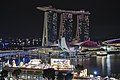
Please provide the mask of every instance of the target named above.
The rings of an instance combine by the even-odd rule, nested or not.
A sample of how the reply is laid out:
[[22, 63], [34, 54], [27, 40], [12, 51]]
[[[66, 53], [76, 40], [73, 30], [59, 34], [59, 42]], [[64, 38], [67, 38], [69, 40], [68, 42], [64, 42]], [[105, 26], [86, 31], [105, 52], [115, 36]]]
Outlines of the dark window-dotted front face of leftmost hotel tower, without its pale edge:
[[57, 41], [57, 13], [49, 11], [47, 15], [48, 45]]

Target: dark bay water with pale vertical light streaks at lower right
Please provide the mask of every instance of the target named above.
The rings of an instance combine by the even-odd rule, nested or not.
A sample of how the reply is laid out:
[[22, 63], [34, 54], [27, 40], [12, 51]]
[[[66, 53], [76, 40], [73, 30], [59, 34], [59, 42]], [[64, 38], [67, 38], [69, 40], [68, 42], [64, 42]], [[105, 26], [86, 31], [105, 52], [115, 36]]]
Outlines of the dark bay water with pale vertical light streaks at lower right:
[[120, 75], [120, 55], [107, 55], [107, 56], [96, 56], [91, 57], [89, 61], [91, 65], [88, 65], [88, 69], [90, 73], [92, 73], [94, 70], [98, 71], [98, 75], [102, 76], [112, 76]]

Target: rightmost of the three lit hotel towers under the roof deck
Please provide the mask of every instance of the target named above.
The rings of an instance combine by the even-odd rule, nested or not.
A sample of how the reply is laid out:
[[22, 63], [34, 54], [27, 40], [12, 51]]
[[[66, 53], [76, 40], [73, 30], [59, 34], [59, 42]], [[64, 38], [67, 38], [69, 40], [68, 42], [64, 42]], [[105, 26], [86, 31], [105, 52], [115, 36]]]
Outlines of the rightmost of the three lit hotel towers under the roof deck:
[[79, 41], [88, 40], [89, 37], [89, 12], [82, 11], [83, 14], [77, 15], [76, 39]]

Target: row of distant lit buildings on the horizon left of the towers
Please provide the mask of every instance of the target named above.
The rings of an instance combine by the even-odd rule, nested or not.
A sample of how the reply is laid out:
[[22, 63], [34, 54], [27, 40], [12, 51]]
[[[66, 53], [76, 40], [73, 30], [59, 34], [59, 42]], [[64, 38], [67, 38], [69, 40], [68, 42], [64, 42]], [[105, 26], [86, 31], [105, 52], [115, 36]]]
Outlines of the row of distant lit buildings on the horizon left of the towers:
[[33, 47], [40, 45], [41, 45], [41, 38], [24, 38], [24, 39], [0, 38], [0, 50], [22, 49], [23, 47]]

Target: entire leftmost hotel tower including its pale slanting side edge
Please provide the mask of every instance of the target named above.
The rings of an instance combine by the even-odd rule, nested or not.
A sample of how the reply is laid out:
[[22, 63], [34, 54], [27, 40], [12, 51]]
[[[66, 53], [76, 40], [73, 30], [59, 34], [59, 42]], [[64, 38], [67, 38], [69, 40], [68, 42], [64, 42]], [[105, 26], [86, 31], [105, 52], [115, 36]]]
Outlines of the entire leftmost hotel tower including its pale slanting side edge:
[[44, 13], [42, 46], [52, 45], [57, 41], [57, 35], [57, 13], [46, 11]]

